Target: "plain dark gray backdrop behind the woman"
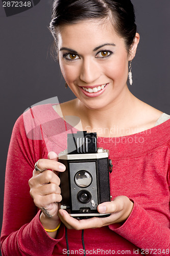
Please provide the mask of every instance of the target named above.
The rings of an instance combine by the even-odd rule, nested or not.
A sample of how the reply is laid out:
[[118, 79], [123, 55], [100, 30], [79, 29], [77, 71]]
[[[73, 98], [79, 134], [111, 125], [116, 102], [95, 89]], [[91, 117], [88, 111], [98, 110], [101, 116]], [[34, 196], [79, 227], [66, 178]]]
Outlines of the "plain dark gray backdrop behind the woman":
[[[39, 101], [55, 96], [59, 102], [74, 98], [69, 89], [65, 90], [58, 63], [50, 56], [53, 38], [47, 26], [52, 2], [41, 0], [34, 8], [10, 17], [6, 17], [0, 3], [1, 221], [5, 165], [14, 122]], [[139, 99], [170, 114], [170, 1], [132, 2], [141, 38], [132, 62], [130, 90]]]

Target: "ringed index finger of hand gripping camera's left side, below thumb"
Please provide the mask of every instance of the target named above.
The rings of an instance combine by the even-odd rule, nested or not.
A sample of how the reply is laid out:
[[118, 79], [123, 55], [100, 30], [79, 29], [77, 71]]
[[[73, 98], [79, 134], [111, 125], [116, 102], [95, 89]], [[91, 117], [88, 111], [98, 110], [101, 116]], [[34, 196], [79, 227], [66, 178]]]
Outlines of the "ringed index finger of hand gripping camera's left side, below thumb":
[[51, 170], [58, 170], [59, 172], [64, 172], [65, 170], [64, 164], [59, 163], [56, 160], [50, 160], [50, 159], [39, 159], [37, 161], [37, 167], [41, 170], [51, 169]]

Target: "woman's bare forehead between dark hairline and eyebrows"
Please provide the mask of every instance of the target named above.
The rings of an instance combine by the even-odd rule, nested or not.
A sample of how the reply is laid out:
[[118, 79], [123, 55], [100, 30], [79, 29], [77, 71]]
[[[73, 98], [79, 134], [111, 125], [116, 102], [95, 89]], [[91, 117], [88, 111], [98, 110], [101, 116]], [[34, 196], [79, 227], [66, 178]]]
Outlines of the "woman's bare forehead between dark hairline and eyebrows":
[[77, 24], [63, 25], [59, 28], [57, 38], [59, 49], [91, 49], [106, 42], [125, 47], [124, 38], [115, 32], [109, 19], [90, 19]]

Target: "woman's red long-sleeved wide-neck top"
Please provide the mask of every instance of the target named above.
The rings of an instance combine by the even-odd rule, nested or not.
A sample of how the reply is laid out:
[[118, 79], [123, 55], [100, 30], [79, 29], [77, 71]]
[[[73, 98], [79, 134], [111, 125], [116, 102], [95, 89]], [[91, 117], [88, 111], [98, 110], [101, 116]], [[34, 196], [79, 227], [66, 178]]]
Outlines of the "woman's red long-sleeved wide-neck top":
[[[124, 223], [84, 230], [86, 255], [170, 254], [169, 129], [170, 119], [141, 133], [98, 138], [112, 159], [112, 197], [125, 195], [134, 208]], [[35, 162], [50, 151], [63, 151], [72, 132], [77, 130], [51, 104], [35, 106], [16, 121], [6, 168], [3, 255], [66, 255], [64, 226], [56, 239], [48, 236], [28, 181]], [[83, 254], [81, 231], [68, 230], [68, 243], [70, 255]]]

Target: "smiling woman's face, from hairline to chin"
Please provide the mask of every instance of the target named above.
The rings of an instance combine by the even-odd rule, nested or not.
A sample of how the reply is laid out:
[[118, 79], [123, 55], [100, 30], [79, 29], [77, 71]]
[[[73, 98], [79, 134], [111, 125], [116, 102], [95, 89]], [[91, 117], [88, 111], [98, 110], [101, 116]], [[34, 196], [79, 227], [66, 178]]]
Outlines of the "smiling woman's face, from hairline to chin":
[[62, 26], [58, 50], [63, 77], [87, 108], [124, 100], [130, 56], [111, 23], [91, 19]]

